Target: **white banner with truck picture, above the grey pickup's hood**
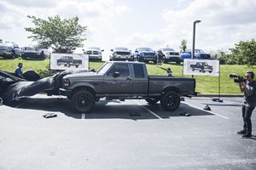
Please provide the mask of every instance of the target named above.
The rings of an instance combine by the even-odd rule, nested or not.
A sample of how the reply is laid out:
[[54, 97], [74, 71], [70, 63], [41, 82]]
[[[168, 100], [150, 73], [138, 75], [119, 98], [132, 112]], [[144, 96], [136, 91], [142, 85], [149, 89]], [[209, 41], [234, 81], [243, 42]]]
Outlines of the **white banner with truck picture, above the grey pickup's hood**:
[[50, 70], [89, 70], [87, 54], [50, 54]]

